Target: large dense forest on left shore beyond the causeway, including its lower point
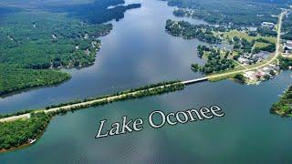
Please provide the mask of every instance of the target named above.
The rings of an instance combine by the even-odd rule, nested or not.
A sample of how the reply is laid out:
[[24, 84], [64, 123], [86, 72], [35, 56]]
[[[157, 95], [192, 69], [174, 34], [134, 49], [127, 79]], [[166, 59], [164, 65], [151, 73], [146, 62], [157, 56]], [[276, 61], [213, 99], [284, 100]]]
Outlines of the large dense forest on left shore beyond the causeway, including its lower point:
[[44, 69], [92, 65], [98, 37], [112, 28], [47, 12], [16, 12], [0, 22], [0, 95], [67, 80], [66, 73]]

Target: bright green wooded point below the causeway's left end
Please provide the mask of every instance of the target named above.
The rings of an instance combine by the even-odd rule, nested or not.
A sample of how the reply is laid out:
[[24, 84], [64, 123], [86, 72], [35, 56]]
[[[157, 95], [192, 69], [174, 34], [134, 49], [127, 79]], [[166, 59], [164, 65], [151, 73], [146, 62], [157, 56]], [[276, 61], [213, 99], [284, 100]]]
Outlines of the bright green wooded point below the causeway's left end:
[[11, 149], [35, 139], [47, 127], [51, 116], [45, 113], [32, 113], [31, 118], [12, 122], [0, 122], [0, 150]]

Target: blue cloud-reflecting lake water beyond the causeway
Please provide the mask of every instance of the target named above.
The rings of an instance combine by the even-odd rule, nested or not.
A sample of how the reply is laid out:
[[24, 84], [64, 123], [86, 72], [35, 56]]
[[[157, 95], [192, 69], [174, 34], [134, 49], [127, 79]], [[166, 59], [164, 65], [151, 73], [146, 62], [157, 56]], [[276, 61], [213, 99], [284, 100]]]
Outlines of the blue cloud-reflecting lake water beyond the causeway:
[[[41, 87], [10, 97], [0, 98], [0, 113], [27, 108], [44, 108], [76, 98], [103, 95], [130, 87], [162, 80], [190, 79], [190, 66], [196, 56], [197, 40], [183, 40], [164, 31], [173, 7], [164, 2], [130, 0], [142, 3], [139, 9], [127, 11], [120, 22], [113, 21], [110, 35], [101, 37], [102, 47], [92, 67], [67, 70], [72, 79], [57, 87]], [[185, 18], [193, 24], [201, 20]]]

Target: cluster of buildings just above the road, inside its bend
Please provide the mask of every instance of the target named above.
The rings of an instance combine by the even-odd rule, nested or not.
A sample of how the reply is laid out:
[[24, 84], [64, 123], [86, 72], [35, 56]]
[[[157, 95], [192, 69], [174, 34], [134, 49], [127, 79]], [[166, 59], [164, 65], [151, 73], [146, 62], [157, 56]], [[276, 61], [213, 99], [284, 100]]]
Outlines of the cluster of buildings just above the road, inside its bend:
[[238, 57], [237, 61], [243, 65], [251, 65], [255, 63], [259, 63], [265, 60], [271, 53], [267, 51], [261, 51], [257, 54], [244, 54]]

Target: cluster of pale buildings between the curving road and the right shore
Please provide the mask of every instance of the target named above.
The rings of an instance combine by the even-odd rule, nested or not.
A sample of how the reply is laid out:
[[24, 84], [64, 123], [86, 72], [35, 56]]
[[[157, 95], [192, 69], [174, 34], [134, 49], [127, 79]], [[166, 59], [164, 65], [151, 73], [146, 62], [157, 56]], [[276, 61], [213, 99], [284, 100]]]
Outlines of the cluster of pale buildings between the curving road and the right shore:
[[247, 79], [248, 84], [258, 84], [260, 81], [275, 77], [279, 71], [280, 67], [269, 65], [254, 71], [247, 71], [244, 77]]

